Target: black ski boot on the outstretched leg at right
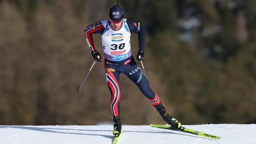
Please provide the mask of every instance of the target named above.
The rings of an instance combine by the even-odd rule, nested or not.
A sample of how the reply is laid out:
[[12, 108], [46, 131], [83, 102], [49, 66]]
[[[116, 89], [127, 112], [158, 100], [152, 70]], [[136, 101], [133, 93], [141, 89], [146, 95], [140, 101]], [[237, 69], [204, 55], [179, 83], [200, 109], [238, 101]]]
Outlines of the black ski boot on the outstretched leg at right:
[[170, 124], [172, 128], [182, 129], [180, 122], [175, 118], [173, 118], [172, 116], [169, 116], [168, 113], [166, 113], [165, 107], [159, 110], [158, 112], [160, 113], [160, 116], [162, 116], [162, 119], [164, 120], [164, 122], [166, 122], [167, 124]]

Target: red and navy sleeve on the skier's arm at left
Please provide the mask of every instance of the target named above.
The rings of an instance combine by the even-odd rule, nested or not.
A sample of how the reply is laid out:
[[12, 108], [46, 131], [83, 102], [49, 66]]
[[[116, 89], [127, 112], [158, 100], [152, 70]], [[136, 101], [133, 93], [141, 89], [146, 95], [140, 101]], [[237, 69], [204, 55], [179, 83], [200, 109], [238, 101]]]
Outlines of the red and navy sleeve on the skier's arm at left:
[[103, 33], [104, 32], [104, 25], [101, 23], [101, 21], [97, 22], [96, 24], [88, 25], [86, 28], [84, 28], [84, 35], [85, 39], [87, 41], [87, 44], [92, 51], [96, 50], [93, 43], [92, 34], [94, 33]]

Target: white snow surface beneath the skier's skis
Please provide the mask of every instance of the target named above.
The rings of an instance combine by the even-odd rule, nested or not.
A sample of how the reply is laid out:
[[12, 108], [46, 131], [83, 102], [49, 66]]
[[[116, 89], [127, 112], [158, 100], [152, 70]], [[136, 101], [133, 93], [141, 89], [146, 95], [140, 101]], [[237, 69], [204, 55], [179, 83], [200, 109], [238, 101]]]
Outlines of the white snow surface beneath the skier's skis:
[[[149, 125], [123, 125], [119, 144], [256, 144], [256, 124], [183, 125], [213, 140]], [[112, 125], [0, 126], [0, 144], [112, 144]]]

